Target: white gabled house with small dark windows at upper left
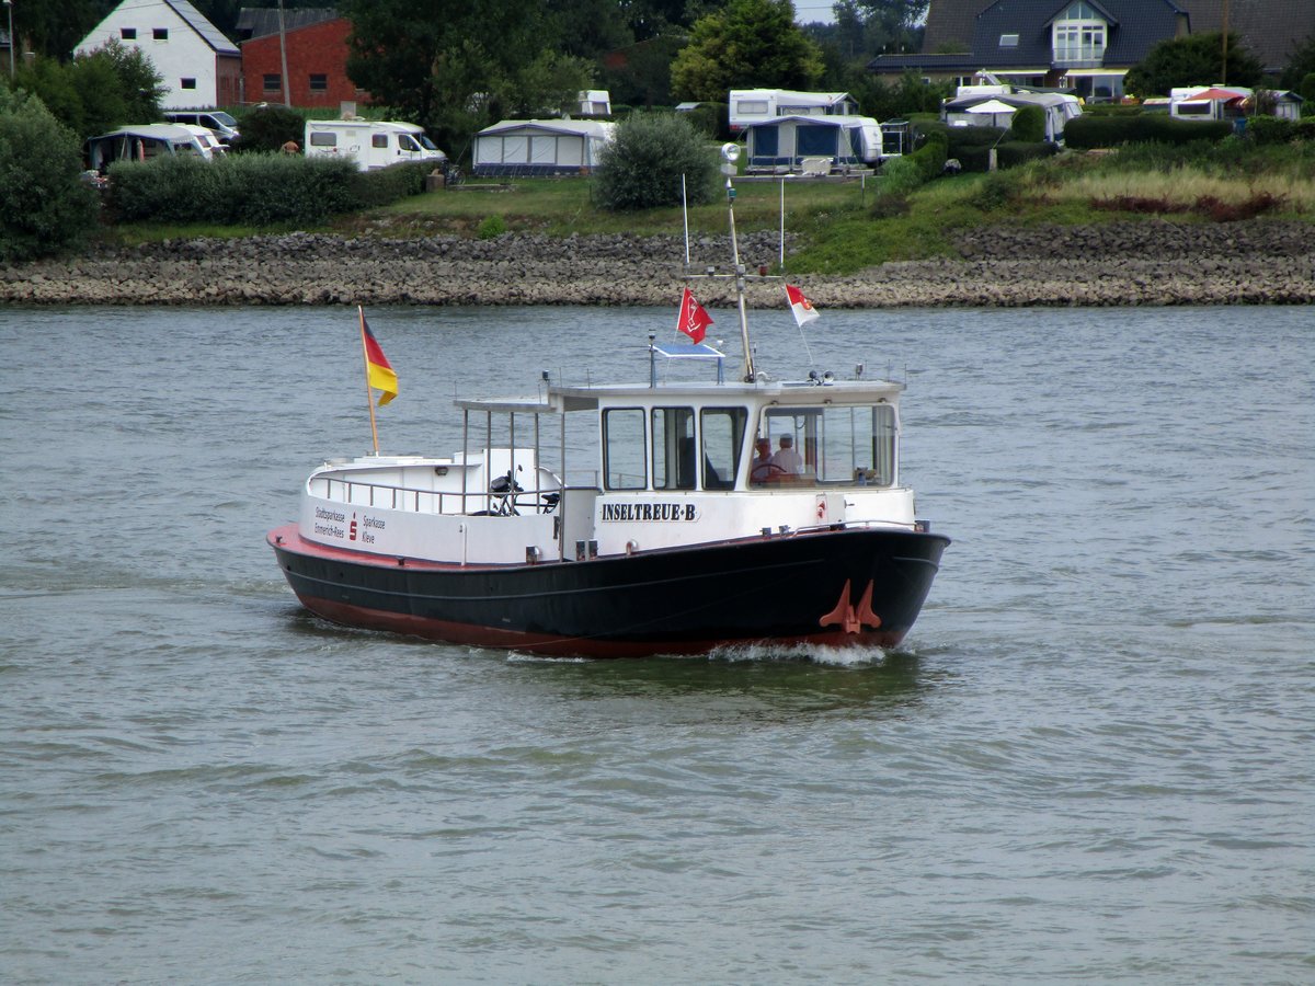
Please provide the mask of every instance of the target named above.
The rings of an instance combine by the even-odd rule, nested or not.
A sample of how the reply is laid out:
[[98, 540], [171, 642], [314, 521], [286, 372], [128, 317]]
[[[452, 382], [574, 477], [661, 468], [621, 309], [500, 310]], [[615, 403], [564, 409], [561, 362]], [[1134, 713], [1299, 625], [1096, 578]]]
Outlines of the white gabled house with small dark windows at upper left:
[[188, 0], [124, 0], [74, 54], [118, 41], [164, 76], [162, 109], [230, 106], [241, 99], [242, 53]]

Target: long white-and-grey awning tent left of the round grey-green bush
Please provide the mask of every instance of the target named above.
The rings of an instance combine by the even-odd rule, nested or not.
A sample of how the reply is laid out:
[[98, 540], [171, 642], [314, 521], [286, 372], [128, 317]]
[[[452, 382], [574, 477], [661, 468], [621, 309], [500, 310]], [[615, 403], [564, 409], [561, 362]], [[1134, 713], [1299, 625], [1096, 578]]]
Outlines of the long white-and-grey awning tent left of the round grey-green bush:
[[475, 135], [475, 174], [586, 174], [614, 131], [598, 120], [504, 120]]

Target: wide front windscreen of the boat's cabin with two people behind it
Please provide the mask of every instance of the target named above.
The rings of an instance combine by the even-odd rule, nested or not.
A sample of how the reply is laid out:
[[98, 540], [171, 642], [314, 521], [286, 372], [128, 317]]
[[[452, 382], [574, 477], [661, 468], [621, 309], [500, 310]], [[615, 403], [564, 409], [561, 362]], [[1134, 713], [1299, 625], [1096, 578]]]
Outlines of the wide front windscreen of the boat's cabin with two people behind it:
[[896, 411], [889, 404], [823, 405], [821, 408], [773, 408], [768, 410], [759, 431], [772, 443], [773, 455], [781, 455], [781, 439], [797, 459], [781, 456], [793, 465], [798, 479], [788, 473], [773, 475], [769, 481], [826, 485], [889, 486], [896, 481]]

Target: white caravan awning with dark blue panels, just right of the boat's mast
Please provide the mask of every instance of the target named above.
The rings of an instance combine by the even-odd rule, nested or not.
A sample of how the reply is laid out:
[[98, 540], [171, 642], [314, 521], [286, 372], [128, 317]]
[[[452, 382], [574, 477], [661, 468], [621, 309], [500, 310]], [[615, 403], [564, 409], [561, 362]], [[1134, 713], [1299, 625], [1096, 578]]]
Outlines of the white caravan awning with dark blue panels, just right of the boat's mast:
[[790, 116], [744, 128], [747, 170], [789, 172], [807, 158], [826, 158], [848, 168], [881, 160], [881, 128], [872, 117]]

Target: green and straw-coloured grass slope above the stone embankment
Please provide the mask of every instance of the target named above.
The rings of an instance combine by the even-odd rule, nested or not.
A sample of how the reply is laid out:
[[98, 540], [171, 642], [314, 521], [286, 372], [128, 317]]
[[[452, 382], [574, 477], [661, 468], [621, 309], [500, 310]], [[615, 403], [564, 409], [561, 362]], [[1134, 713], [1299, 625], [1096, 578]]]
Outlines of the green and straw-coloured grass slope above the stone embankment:
[[[480, 235], [481, 227], [550, 237], [681, 235], [679, 208], [609, 213], [593, 201], [588, 179], [469, 180], [393, 205], [339, 217], [321, 230], [343, 235]], [[955, 255], [959, 231], [989, 226], [1101, 225], [1111, 222], [1226, 222], [1269, 216], [1315, 221], [1315, 146], [1134, 147], [1106, 154], [1063, 154], [992, 175], [939, 177], [907, 195], [882, 179], [817, 183], [739, 181], [740, 231], [792, 237], [794, 272], [844, 275], [889, 260]], [[726, 231], [726, 201], [689, 209], [693, 237]], [[116, 227], [118, 242], [246, 237], [287, 229], [158, 226]]]

